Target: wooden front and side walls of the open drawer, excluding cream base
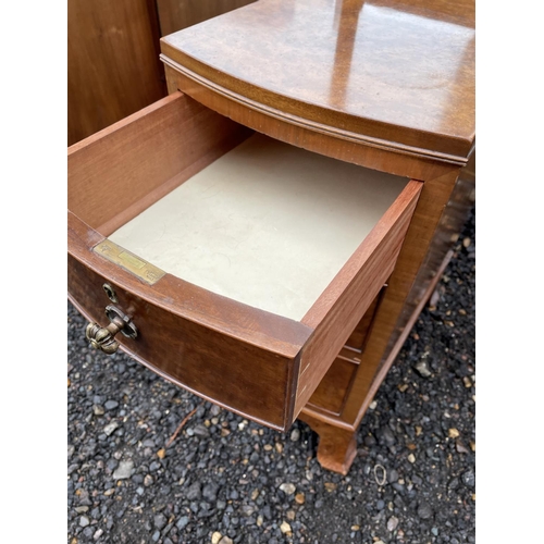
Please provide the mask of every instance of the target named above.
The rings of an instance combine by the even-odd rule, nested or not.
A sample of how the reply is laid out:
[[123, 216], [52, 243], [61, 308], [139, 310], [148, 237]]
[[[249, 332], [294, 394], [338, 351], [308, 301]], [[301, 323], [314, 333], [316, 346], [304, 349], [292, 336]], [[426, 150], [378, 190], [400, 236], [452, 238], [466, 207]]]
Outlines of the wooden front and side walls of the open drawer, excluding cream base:
[[[96, 250], [249, 135], [247, 128], [176, 92], [70, 148], [69, 296], [89, 321], [104, 327], [104, 308], [112, 302], [102, 286], [111, 284], [119, 300], [114, 306], [138, 329], [134, 339], [115, 336], [121, 349], [208, 400], [286, 430], [391, 274], [421, 183], [403, 185], [300, 319], [168, 272], [147, 281]], [[302, 206], [293, 202], [297, 208]], [[145, 260], [133, 257], [135, 262]]]

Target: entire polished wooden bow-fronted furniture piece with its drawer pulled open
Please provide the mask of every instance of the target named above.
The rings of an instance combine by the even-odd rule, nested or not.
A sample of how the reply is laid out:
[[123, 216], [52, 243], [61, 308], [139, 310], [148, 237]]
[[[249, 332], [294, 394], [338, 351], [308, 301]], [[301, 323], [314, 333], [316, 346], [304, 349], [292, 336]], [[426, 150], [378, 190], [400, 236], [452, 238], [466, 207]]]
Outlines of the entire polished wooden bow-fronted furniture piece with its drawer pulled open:
[[69, 148], [69, 296], [346, 473], [473, 201], [473, 3], [260, 0], [161, 51], [170, 96]]

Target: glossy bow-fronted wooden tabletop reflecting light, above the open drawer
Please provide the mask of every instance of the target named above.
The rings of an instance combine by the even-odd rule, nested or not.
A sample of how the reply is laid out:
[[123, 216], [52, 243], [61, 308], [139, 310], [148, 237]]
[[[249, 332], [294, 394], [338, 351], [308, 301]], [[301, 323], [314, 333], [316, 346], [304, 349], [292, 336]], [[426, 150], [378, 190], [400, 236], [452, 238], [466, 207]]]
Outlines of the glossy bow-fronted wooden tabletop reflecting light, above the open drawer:
[[161, 41], [287, 121], [454, 162], [474, 143], [473, 0], [259, 0]]

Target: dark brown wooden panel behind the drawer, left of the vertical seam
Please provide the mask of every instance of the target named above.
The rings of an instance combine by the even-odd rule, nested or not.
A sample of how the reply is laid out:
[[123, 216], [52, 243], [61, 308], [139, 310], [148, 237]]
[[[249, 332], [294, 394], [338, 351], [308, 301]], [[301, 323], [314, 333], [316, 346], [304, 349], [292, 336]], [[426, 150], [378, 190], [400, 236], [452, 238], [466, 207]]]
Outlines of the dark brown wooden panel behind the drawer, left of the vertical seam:
[[69, 0], [69, 146], [166, 95], [154, 2]]

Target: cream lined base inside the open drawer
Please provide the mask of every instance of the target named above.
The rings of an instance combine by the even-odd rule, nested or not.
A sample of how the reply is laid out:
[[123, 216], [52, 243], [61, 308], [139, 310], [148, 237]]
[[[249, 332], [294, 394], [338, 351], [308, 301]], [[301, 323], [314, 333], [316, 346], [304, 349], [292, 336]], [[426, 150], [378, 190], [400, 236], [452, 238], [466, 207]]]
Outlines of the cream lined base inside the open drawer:
[[176, 277], [300, 321], [407, 183], [254, 134], [109, 239]]

